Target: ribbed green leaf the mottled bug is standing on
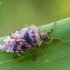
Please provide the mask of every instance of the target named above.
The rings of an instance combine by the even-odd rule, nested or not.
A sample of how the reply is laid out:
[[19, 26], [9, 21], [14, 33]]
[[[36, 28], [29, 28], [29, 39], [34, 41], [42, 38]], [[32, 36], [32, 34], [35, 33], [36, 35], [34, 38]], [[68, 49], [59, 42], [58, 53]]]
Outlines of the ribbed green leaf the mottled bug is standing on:
[[[40, 29], [46, 32], [52, 25], [43, 25]], [[14, 53], [0, 50], [0, 70], [70, 70], [70, 18], [57, 21], [48, 36], [63, 39], [69, 45], [61, 41], [52, 41], [50, 44], [43, 42], [39, 49], [23, 52], [22, 57], [16, 59], [13, 59]], [[0, 42], [4, 38], [0, 38]], [[34, 53], [36, 60], [33, 60]]]

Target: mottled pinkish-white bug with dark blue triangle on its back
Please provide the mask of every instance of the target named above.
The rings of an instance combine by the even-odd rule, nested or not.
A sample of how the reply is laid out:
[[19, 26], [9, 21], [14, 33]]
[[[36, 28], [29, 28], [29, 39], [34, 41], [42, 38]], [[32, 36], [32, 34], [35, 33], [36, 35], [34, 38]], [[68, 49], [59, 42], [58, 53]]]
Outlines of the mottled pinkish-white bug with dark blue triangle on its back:
[[[46, 33], [41, 32], [39, 28], [35, 25], [30, 25], [26, 28], [19, 29], [11, 33], [2, 41], [0, 49], [6, 52], [26, 51], [33, 47], [39, 47], [42, 44], [42, 42], [47, 38], [51, 38], [51, 40], [50, 42], [46, 43], [51, 43], [53, 40], [60, 40], [67, 44], [67, 42], [59, 38], [48, 37], [48, 34], [52, 31], [55, 24], [56, 22]], [[16, 56], [19, 56], [19, 54], [17, 54]]]

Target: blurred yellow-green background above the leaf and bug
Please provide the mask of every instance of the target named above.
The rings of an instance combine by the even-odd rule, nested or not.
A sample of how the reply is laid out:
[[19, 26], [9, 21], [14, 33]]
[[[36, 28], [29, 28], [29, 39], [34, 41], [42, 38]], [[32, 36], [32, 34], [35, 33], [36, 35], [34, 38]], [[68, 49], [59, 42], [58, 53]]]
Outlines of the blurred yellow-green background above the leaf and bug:
[[70, 17], [70, 0], [0, 0], [0, 37], [25, 24], [41, 26]]

